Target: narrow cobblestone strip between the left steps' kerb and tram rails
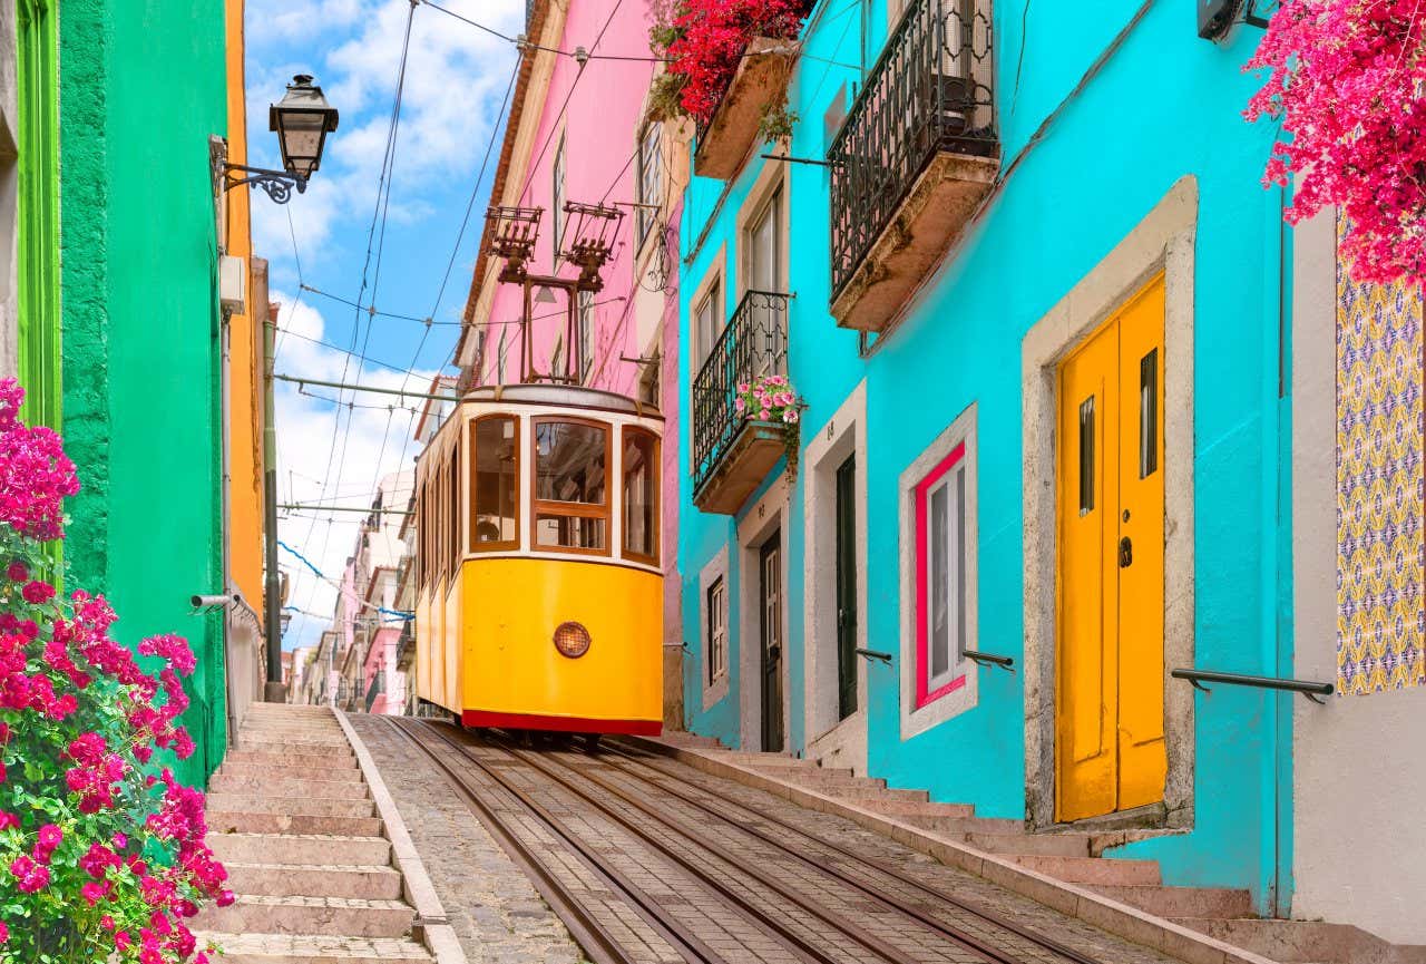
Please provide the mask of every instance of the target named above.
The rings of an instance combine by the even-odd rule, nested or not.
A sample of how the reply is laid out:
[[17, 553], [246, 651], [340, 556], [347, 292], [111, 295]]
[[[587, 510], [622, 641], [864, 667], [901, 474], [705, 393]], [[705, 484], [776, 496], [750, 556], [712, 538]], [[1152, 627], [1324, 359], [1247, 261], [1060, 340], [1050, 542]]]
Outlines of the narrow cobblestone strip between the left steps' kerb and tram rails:
[[578, 964], [585, 957], [525, 873], [391, 727], [348, 717], [381, 770], [471, 964]]

